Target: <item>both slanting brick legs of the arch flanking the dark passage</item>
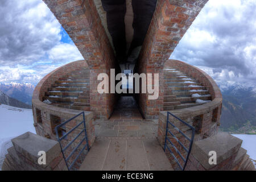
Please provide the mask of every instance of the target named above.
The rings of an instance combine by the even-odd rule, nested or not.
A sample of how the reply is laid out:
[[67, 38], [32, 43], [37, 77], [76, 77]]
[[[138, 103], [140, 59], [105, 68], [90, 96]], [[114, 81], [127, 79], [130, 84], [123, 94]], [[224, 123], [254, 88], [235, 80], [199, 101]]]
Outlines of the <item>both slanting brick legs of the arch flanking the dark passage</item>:
[[[90, 105], [97, 116], [113, 112], [115, 94], [97, 93], [98, 73], [110, 76], [118, 68], [114, 51], [93, 0], [43, 0], [67, 31], [90, 68]], [[158, 0], [137, 64], [138, 73], [159, 73], [159, 98], [147, 100], [139, 94], [139, 106], [146, 118], [163, 110], [163, 64], [169, 59], [193, 20], [208, 0]]]

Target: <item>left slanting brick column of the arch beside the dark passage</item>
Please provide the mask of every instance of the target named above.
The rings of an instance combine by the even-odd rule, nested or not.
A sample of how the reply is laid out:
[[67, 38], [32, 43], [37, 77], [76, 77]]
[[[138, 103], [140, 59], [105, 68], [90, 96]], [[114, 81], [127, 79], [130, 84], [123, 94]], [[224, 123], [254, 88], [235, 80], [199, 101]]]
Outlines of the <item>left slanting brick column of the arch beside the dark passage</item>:
[[[114, 94], [98, 94], [98, 73], [115, 68], [114, 52], [93, 0], [43, 0], [71, 37], [90, 68], [90, 107], [96, 117], [108, 118]], [[109, 75], [110, 76], [110, 75]]]

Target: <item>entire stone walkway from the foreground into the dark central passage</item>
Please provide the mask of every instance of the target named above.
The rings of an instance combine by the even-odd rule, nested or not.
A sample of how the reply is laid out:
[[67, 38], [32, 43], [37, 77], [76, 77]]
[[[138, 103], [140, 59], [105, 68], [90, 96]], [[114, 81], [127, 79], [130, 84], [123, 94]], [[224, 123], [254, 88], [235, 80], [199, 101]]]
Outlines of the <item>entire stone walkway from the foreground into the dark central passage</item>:
[[133, 97], [121, 97], [112, 118], [94, 123], [96, 141], [81, 171], [172, 170], [156, 135], [158, 119], [142, 119]]

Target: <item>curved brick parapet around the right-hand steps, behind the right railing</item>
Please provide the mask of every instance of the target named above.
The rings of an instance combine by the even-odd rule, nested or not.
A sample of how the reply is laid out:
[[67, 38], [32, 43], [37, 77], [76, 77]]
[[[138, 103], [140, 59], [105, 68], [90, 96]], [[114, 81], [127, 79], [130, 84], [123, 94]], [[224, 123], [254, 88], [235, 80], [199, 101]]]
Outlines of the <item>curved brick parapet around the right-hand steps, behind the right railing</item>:
[[[206, 104], [184, 109], [170, 110], [170, 112], [195, 127], [195, 140], [201, 140], [217, 134], [218, 127], [220, 126], [222, 95], [216, 82], [207, 73], [201, 71], [201, 69], [184, 63], [183, 61], [168, 60], [166, 66], [183, 72], [187, 76], [197, 80], [201, 85], [207, 88], [210, 95], [212, 96], [212, 101], [207, 102]], [[158, 140], [162, 146], [164, 145], [164, 139], [166, 137], [166, 121], [167, 111], [160, 112]], [[186, 126], [181, 125], [180, 122], [177, 121], [174, 117], [170, 117], [169, 121], [179, 127], [183, 133], [187, 134], [188, 136], [191, 135], [191, 130], [188, 130]], [[182, 135], [179, 135], [179, 133], [174, 128], [171, 127], [170, 131], [174, 134], [177, 134], [177, 138], [182, 141], [186, 147], [189, 147], [188, 140], [185, 140]], [[175, 138], [170, 136], [170, 139], [174, 144], [176, 144], [176, 146], [179, 145]], [[169, 156], [169, 158], [174, 167], [176, 165], [175, 161], [171, 158], [171, 156]], [[180, 160], [181, 158], [178, 156], [178, 159]]]

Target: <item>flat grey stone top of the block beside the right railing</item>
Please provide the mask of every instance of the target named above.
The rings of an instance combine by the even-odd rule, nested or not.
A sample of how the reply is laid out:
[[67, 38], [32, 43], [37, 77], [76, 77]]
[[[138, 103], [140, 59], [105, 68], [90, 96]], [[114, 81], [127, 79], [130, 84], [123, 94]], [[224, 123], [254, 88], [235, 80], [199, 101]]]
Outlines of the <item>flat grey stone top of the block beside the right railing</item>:
[[[193, 143], [191, 155], [193, 155], [204, 166], [210, 169], [223, 162], [225, 159], [236, 154], [240, 149], [242, 140], [228, 133], [218, 133], [212, 137]], [[209, 152], [216, 151], [217, 164], [209, 164]]]

